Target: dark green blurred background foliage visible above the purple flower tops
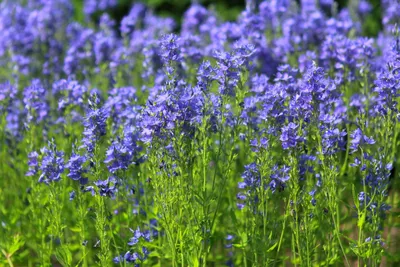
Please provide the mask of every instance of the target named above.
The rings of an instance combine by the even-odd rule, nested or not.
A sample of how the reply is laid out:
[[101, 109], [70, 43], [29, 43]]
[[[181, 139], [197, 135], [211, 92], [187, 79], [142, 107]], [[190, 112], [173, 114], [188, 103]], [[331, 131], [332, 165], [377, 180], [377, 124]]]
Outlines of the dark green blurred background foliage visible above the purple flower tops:
[[[175, 19], [178, 25], [181, 22], [183, 13], [188, 9], [193, 0], [117, 0], [117, 6], [110, 8], [107, 12], [117, 21], [120, 21], [129, 13], [133, 3], [141, 2], [152, 7], [157, 14]], [[296, 0], [300, 2], [301, 0]], [[83, 20], [83, 1], [73, 0], [77, 12], [76, 19]], [[235, 20], [238, 14], [245, 8], [245, 0], [197, 0], [203, 6], [214, 9], [223, 20]], [[259, 0], [261, 2], [261, 0]], [[346, 6], [357, 5], [358, 0], [334, 0], [339, 10]], [[376, 36], [382, 28], [381, 24], [381, 0], [368, 0], [372, 11], [367, 14], [364, 20], [363, 31], [367, 36]], [[93, 14], [99, 16], [99, 14]]]

